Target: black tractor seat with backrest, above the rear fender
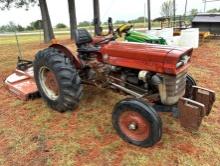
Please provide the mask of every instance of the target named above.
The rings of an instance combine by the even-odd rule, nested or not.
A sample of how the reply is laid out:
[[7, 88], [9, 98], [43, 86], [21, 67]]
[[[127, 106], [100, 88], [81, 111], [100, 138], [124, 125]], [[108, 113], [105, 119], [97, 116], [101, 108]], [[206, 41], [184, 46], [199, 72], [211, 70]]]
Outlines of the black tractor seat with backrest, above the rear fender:
[[86, 29], [75, 30], [75, 42], [78, 47], [77, 51], [83, 54], [96, 53], [100, 47], [92, 45], [92, 37]]

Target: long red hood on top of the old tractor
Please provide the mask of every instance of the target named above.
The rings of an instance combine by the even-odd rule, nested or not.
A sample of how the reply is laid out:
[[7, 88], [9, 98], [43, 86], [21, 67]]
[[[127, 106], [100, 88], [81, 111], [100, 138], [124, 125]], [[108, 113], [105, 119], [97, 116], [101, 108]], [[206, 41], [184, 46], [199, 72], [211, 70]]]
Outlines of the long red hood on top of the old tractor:
[[[101, 48], [101, 53], [104, 62], [114, 66], [176, 75], [188, 68], [192, 48], [110, 42]], [[186, 57], [187, 60], [185, 60]], [[183, 64], [181, 65], [179, 62], [182, 61]]]

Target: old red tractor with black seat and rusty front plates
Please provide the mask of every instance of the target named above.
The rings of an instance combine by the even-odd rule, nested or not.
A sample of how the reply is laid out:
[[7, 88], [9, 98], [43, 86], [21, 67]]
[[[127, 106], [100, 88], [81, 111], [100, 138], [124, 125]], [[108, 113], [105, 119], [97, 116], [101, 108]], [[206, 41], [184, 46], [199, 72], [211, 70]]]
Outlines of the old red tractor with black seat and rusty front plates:
[[85, 29], [75, 32], [75, 42], [77, 56], [53, 44], [34, 60], [38, 90], [51, 108], [75, 109], [83, 84], [123, 92], [132, 97], [114, 107], [113, 126], [122, 139], [142, 147], [161, 139], [157, 111], [176, 110], [190, 129], [198, 129], [211, 111], [214, 92], [197, 87], [187, 74], [192, 49], [117, 42], [114, 36], [94, 43]]

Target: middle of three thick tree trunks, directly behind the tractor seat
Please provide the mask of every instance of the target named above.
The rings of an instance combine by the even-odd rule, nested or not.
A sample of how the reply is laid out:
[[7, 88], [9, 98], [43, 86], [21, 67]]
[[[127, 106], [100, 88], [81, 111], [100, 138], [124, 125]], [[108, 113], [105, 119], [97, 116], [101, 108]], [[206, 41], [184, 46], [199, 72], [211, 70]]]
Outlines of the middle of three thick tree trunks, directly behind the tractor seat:
[[68, 0], [69, 3], [69, 15], [70, 15], [70, 34], [71, 39], [74, 40], [74, 31], [77, 29], [77, 19], [76, 19], [76, 6], [75, 0]]

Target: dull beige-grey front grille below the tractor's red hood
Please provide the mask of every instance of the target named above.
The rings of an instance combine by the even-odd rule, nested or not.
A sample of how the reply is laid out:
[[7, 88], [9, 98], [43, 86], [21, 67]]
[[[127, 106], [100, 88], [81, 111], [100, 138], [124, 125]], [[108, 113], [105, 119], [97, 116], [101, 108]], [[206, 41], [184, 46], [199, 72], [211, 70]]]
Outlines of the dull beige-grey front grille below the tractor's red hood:
[[159, 85], [161, 102], [173, 105], [185, 94], [186, 71], [177, 76], [162, 76], [162, 84]]

